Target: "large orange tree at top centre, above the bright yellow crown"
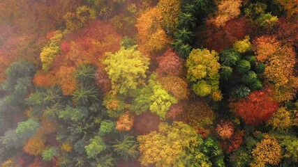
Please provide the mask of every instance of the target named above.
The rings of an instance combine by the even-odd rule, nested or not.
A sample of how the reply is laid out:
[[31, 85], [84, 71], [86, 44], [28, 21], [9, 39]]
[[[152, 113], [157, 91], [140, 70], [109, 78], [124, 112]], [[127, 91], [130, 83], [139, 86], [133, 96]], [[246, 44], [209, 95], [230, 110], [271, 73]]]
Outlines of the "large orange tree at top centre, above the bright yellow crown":
[[163, 17], [158, 8], [151, 8], [137, 18], [137, 33], [139, 35], [139, 49], [145, 54], [163, 49], [170, 42], [161, 26]]

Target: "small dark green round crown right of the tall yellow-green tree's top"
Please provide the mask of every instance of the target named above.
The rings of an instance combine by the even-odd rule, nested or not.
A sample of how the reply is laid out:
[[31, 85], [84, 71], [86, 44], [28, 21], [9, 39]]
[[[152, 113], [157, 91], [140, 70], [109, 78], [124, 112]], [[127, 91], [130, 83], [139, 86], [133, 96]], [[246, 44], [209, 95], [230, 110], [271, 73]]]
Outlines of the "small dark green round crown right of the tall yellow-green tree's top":
[[234, 49], [226, 49], [221, 51], [220, 54], [221, 65], [230, 66], [236, 65], [237, 61], [240, 60], [241, 55], [238, 51], [234, 51]]

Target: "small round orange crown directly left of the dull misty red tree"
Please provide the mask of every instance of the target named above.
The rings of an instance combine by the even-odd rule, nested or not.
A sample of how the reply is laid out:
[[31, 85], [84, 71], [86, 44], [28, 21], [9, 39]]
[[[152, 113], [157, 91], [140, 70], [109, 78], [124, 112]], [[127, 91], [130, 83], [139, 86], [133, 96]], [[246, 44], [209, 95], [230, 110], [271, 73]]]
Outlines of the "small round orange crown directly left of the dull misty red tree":
[[135, 122], [135, 117], [126, 111], [123, 116], [120, 116], [117, 120], [116, 129], [119, 131], [130, 131]]

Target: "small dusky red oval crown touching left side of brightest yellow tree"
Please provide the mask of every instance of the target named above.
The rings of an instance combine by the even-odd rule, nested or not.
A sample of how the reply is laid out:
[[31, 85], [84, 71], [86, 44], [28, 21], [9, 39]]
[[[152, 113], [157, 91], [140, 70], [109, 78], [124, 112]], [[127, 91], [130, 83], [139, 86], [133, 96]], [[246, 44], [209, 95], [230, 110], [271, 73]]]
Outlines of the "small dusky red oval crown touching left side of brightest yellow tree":
[[112, 89], [111, 79], [101, 65], [95, 72], [95, 81], [98, 88], [105, 93], [108, 93]]

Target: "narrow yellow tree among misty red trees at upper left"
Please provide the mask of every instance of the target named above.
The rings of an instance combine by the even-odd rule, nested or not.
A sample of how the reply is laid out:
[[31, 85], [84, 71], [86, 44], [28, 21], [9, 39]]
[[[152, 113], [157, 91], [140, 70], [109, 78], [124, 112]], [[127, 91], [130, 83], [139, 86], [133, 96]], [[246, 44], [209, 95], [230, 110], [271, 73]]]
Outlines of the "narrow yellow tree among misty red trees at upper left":
[[43, 70], [45, 72], [50, 70], [54, 58], [60, 52], [60, 44], [63, 38], [63, 33], [61, 31], [54, 31], [54, 35], [50, 38], [50, 44], [47, 47], [43, 47], [40, 53], [40, 61], [43, 64]]

